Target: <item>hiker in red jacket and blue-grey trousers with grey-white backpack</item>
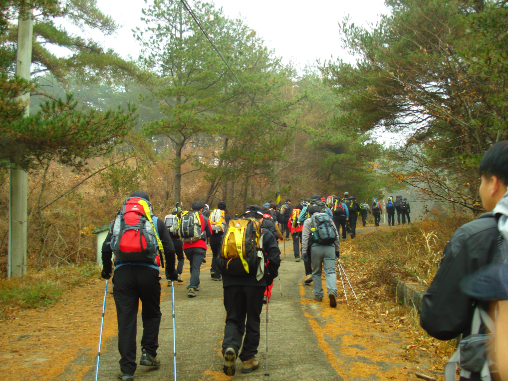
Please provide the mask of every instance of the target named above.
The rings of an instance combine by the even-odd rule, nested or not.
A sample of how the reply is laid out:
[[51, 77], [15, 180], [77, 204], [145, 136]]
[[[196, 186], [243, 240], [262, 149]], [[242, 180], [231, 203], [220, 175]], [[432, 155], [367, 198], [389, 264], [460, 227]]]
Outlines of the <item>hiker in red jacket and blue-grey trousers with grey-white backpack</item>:
[[201, 264], [205, 259], [207, 243], [206, 240], [211, 236], [211, 226], [208, 218], [201, 212], [205, 204], [201, 201], [195, 201], [190, 205], [192, 208], [180, 219], [178, 235], [183, 242], [183, 252], [190, 264], [190, 282], [187, 286], [189, 298], [198, 296], [200, 290], [199, 275]]

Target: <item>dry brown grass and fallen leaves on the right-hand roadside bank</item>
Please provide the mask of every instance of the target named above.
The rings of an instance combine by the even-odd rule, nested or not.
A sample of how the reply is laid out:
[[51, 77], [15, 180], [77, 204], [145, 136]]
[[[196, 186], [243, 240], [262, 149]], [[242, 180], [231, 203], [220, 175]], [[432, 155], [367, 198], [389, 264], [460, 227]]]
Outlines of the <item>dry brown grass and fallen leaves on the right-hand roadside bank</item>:
[[[468, 215], [430, 215], [424, 221], [377, 229], [359, 235], [341, 247], [341, 263], [353, 278], [358, 298], [352, 308], [371, 323], [403, 332], [407, 342], [401, 347], [404, 360], [419, 358], [419, 353], [432, 353], [432, 369], [440, 371], [455, 351], [456, 341], [439, 341], [420, 327], [414, 308], [400, 304], [391, 290], [391, 276], [418, 282], [428, 287], [442, 257], [442, 251], [457, 228], [470, 221]], [[339, 285], [340, 289], [340, 285]]]

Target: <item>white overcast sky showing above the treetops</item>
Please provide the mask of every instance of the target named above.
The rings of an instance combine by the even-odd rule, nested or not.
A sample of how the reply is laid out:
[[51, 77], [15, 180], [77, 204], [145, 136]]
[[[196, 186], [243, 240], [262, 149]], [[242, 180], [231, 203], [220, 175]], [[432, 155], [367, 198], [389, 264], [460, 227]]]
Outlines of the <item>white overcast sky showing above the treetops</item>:
[[[98, 0], [99, 8], [111, 15], [123, 25], [116, 37], [94, 39], [103, 41], [106, 47], [113, 47], [126, 57], [131, 54], [137, 58], [138, 42], [132, 38], [131, 29], [144, 26], [140, 21], [141, 9], [147, 8], [151, 0]], [[193, 0], [188, 0], [192, 7]], [[246, 23], [257, 31], [257, 36], [265, 40], [266, 45], [275, 49], [275, 54], [282, 57], [284, 63], [293, 60], [297, 67], [305, 63], [314, 63], [316, 58], [330, 59], [333, 55], [354, 62], [353, 57], [341, 49], [338, 22], [350, 15], [356, 24], [367, 26], [375, 23], [379, 14], [388, 12], [380, 0], [322, 0], [321, 2], [283, 1], [283, 0], [216, 0], [217, 8], [223, 7], [231, 18], [239, 15], [246, 18]]]

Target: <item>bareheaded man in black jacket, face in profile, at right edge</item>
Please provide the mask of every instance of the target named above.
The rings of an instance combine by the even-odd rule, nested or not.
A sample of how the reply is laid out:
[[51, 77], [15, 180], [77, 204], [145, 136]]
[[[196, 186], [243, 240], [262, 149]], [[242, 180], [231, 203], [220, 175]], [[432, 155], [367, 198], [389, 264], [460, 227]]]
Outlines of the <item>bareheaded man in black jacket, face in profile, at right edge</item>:
[[[477, 315], [476, 311], [482, 314], [485, 306], [478, 299], [464, 294], [460, 285], [468, 275], [482, 267], [504, 260], [502, 252], [507, 243], [502, 239], [499, 230], [504, 231], [503, 221], [506, 218], [501, 210], [506, 210], [508, 201], [503, 198], [508, 185], [508, 141], [501, 141], [490, 147], [482, 157], [478, 173], [481, 176], [479, 194], [486, 213], [461, 226], [454, 233], [444, 248], [441, 264], [422, 300], [420, 324], [429, 335], [439, 340], [451, 340], [459, 335], [462, 335], [463, 340], [467, 340], [471, 333], [487, 333], [483, 317], [480, 330], [472, 324], [473, 317]], [[500, 212], [500, 215], [496, 216], [497, 212]], [[477, 351], [461, 354], [461, 363], [468, 363], [471, 360], [468, 356], [480, 357], [479, 353], [485, 351], [487, 343], [484, 346], [481, 341], [477, 343], [480, 344]], [[461, 344], [460, 347], [462, 346]], [[454, 356], [451, 360], [454, 360]], [[487, 370], [483, 377], [482, 369]], [[455, 379], [455, 368], [451, 373]], [[479, 364], [477, 369], [473, 369], [469, 379], [487, 379], [488, 373], [488, 367], [484, 368]], [[461, 379], [467, 379], [464, 376], [467, 374], [461, 372]], [[449, 378], [446, 379], [448, 380]]]

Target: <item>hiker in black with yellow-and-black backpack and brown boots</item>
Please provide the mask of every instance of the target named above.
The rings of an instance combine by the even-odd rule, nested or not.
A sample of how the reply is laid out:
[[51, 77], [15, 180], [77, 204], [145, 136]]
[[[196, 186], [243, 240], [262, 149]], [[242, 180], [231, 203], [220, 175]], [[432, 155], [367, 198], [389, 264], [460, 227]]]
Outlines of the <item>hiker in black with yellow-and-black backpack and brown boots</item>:
[[[273, 283], [273, 279], [278, 276], [278, 268], [280, 266], [280, 250], [275, 237], [267, 230], [259, 228], [263, 223], [263, 212], [258, 205], [250, 205], [247, 207], [247, 211], [241, 215], [238, 219], [230, 221], [230, 225], [236, 223], [240, 226], [242, 219], [254, 219], [255, 221], [246, 221], [250, 226], [261, 230], [262, 240], [262, 255], [264, 259], [260, 260], [256, 256], [256, 252], [248, 253], [256, 261], [252, 262], [253, 265], [249, 265], [249, 273], [238, 273], [237, 275], [229, 274], [229, 271], [233, 271], [233, 268], [239, 268], [239, 271], [244, 269], [240, 258], [238, 258], [238, 252], [228, 252], [228, 258], [233, 258], [225, 261], [222, 258], [225, 253], [221, 253], [221, 263], [229, 263], [228, 271], [223, 271], [223, 287], [224, 287], [224, 307], [226, 308], [226, 326], [224, 327], [224, 339], [222, 344], [222, 354], [224, 356], [224, 373], [232, 376], [236, 370], [236, 358], [239, 357], [242, 361], [242, 373], [249, 373], [252, 370], [259, 368], [259, 361], [256, 359], [258, 353], [258, 346], [260, 340], [260, 314], [263, 309], [263, 293], [266, 290], [268, 284]], [[228, 228], [228, 229], [234, 229]], [[247, 229], [243, 230], [244, 232]], [[246, 233], [244, 233], [246, 234]], [[252, 234], [252, 233], [251, 233]], [[237, 246], [236, 235], [232, 234], [229, 237], [233, 240], [232, 245], [225, 245], [227, 250], [235, 250]], [[226, 239], [226, 237], [225, 237]], [[245, 238], [242, 238], [242, 240]], [[249, 241], [249, 239], [246, 239]], [[244, 245], [245, 249], [248, 245]], [[251, 257], [247, 257], [247, 260]], [[236, 264], [233, 264], [237, 261]], [[264, 261], [264, 262], [260, 262]], [[242, 345], [242, 337], [243, 338]], [[240, 352], [240, 346], [241, 352]]]

